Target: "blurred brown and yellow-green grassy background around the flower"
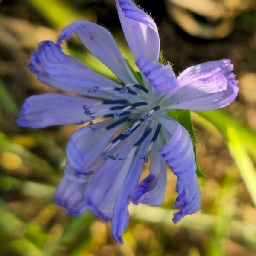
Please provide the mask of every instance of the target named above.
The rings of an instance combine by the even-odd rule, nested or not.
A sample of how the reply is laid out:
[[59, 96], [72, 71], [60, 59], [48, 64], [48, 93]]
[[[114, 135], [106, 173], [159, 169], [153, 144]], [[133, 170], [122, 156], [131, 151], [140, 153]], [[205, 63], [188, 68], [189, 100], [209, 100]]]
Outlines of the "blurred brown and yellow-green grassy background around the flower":
[[[172, 224], [175, 176], [168, 171], [163, 207], [134, 207], [116, 244], [111, 225], [86, 212], [66, 215], [52, 196], [65, 146], [76, 125], [23, 129], [15, 119], [24, 99], [54, 89], [25, 64], [45, 39], [86, 19], [108, 28], [131, 63], [114, 0], [0, 1], [0, 255], [2, 256], [255, 256], [256, 255], [256, 1], [140, 0], [155, 17], [161, 49], [178, 74], [205, 61], [230, 58], [239, 96], [228, 108], [192, 112], [201, 212]], [[66, 52], [116, 79], [75, 39]], [[148, 166], [145, 166], [147, 169]]]

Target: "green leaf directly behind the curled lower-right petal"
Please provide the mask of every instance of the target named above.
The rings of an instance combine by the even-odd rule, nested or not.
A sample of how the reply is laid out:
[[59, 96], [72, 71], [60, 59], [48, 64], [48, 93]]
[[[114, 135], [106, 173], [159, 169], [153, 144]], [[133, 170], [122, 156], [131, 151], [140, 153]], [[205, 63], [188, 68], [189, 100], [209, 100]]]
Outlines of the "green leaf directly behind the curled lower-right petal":
[[202, 172], [201, 167], [199, 166], [199, 163], [197, 160], [195, 133], [194, 133], [194, 129], [193, 129], [190, 111], [189, 110], [172, 110], [172, 111], [167, 111], [166, 113], [168, 116], [171, 116], [172, 118], [177, 120], [189, 132], [190, 138], [193, 143], [194, 153], [195, 153], [195, 158], [196, 158], [196, 166], [197, 166], [196, 174], [198, 177], [203, 178], [204, 175], [203, 175], [203, 172]]

